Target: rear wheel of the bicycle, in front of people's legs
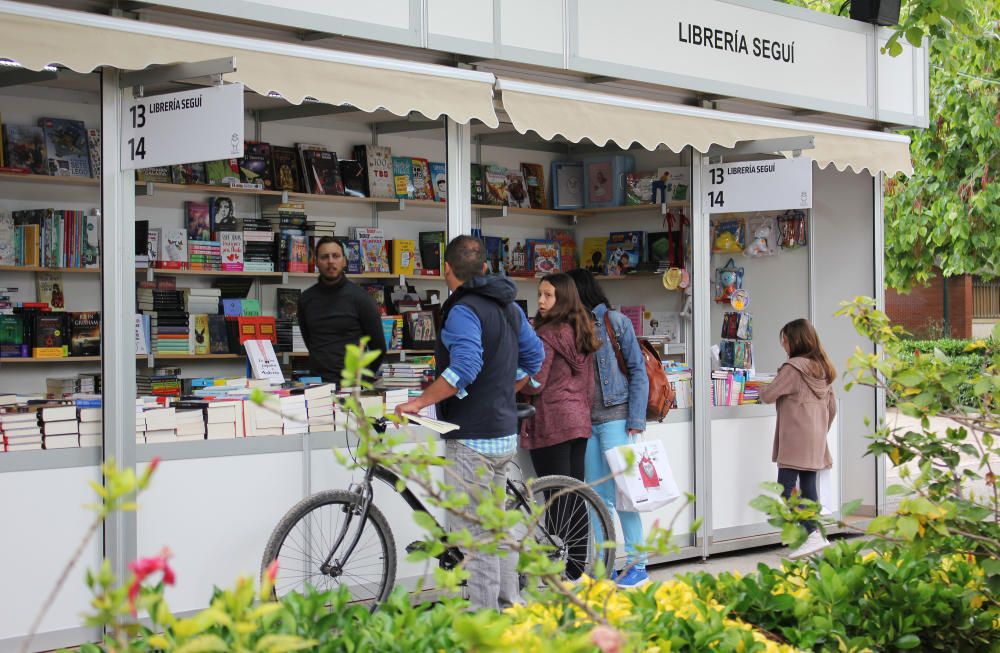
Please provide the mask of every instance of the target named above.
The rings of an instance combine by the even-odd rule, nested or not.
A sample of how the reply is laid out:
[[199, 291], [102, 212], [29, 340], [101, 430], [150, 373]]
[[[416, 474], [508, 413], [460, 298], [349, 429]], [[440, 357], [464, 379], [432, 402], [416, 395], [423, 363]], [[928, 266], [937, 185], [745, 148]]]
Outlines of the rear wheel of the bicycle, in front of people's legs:
[[548, 555], [565, 563], [563, 577], [596, 578], [614, 569], [615, 527], [607, 506], [592, 487], [569, 476], [543, 476], [528, 482], [531, 499], [542, 507], [534, 529], [536, 541], [551, 547]]

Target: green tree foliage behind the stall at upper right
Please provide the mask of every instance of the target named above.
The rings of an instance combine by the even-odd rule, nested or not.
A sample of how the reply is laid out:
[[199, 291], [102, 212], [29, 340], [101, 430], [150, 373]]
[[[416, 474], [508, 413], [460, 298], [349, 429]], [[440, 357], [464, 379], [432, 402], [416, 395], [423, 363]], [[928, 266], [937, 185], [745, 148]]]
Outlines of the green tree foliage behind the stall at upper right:
[[[840, 0], [788, 4], [838, 13]], [[1000, 274], [1000, 4], [909, 0], [886, 46], [929, 38], [930, 126], [910, 130], [914, 173], [885, 187], [886, 283], [908, 290], [944, 276]]]

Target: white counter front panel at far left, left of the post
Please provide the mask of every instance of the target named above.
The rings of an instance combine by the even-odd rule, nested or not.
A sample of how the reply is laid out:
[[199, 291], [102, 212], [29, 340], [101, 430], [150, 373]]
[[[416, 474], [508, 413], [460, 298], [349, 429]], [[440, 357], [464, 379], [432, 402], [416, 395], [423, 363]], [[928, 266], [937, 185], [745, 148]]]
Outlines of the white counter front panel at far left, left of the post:
[[[97, 467], [0, 474], [0, 641], [27, 633], [93, 521], [83, 507], [96, 499], [88, 482], [101, 482]], [[39, 632], [80, 627], [90, 601], [84, 574], [100, 566], [102, 550], [98, 529]]]

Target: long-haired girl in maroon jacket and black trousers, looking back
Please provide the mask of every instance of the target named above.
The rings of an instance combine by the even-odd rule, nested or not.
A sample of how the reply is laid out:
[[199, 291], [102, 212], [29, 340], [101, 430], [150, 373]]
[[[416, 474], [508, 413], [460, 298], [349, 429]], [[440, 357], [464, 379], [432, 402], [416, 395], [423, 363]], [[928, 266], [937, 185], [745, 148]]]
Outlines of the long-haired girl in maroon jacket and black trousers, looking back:
[[521, 390], [535, 407], [535, 416], [521, 427], [521, 447], [531, 454], [538, 476], [582, 481], [591, 426], [592, 356], [600, 341], [569, 275], [550, 274], [538, 284], [535, 329], [545, 345], [545, 361]]

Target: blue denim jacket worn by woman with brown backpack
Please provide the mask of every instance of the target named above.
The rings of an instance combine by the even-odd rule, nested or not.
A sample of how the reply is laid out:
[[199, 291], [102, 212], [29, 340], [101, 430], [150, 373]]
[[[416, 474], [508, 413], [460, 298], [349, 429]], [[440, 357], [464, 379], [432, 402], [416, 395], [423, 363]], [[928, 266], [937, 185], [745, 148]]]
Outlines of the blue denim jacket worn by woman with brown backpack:
[[[596, 320], [595, 331], [601, 340], [601, 348], [594, 354], [594, 360], [597, 361], [597, 374], [601, 379], [604, 405], [617, 406], [628, 402], [628, 420], [625, 428], [644, 431], [649, 379], [646, 377], [646, 364], [639, 350], [639, 341], [635, 337], [632, 321], [618, 311], [608, 311], [608, 307], [604, 304], [598, 304], [593, 313]], [[618, 359], [613, 345], [608, 341], [608, 332], [604, 326], [605, 313], [611, 316], [611, 329], [621, 344], [622, 357], [629, 370], [629, 378], [618, 369]]]

